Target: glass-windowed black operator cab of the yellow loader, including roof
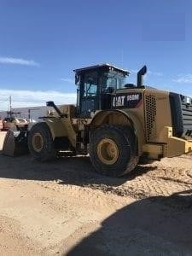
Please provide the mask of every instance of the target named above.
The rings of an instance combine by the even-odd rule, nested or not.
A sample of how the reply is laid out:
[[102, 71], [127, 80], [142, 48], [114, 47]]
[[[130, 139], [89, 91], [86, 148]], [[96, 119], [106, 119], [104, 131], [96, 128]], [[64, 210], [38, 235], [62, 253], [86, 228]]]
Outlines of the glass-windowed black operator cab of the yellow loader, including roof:
[[91, 118], [96, 110], [111, 108], [111, 95], [123, 88], [128, 71], [102, 64], [75, 69], [78, 85], [77, 112], [81, 118]]

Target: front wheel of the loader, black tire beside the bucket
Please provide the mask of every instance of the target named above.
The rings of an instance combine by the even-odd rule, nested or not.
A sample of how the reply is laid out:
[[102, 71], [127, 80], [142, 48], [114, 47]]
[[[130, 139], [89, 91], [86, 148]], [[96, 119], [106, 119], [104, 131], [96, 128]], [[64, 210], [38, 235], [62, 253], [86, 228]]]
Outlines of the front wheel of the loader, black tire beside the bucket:
[[35, 160], [44, 162], [56, 158], [53, 138], [45, 122], [32, 126], [28, 134], [28, 148]]

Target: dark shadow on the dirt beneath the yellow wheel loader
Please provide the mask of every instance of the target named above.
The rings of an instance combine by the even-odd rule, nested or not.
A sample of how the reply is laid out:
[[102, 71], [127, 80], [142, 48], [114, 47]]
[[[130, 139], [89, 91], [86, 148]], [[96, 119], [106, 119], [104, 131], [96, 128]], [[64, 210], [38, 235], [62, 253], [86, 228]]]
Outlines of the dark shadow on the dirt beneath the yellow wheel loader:
[[0, 154], [0, 177], [29, 179], [29, 180], [57, 180], [61, 184], [106, 184], [119, 186], [127, 180], [141, 176], [155, 170], [155, 166], [137, 166], [124, 177], [104, 177], [94, 171], [89, 157], [66, 157], [53, 162], [39, 163], [30, 154], [20, 157], [9, 157]]

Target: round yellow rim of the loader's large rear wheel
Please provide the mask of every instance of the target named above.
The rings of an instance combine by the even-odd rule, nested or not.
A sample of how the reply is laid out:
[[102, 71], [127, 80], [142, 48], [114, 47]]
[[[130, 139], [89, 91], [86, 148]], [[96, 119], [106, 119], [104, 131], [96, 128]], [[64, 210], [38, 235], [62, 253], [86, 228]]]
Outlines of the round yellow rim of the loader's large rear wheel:
[[106, 165], [113, 165], [119, 157], [119, 148], [113, 140], [105, 138], [97, 145], [97, 155]]

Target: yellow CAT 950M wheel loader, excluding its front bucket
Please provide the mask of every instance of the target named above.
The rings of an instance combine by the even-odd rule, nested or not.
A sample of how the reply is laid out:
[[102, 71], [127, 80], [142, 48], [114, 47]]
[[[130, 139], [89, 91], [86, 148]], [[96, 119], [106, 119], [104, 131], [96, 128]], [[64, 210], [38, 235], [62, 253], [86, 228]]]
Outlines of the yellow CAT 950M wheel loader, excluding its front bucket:
[[61, 152], [89, 154], [96, 172], [119, 177], [139, 160], [160, 160], [192, 151], [192, 98], [143, 84], [126, 84], [129, 72], [109, 64], [74, 70], [77, 105], [52, 107], [28, 131], [38, 161]]

